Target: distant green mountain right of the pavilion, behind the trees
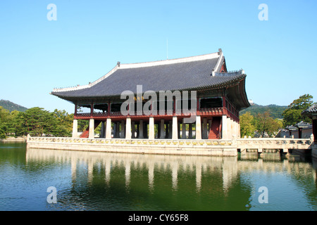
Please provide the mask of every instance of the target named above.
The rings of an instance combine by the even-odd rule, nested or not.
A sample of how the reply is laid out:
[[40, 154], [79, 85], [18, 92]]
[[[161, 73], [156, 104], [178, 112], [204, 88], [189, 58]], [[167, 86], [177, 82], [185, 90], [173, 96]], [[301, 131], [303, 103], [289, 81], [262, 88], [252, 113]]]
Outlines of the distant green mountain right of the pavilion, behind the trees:
[[287, 106], [280, 105], [251, 105], [249, 108], [240, 111], [240, 115], [249, 112], [251, 115], [257, 115], [258, 113], [264, 113], [270, 111], [271, 116], [274, 119], [282, 119], [282, 113], [287, 109]]

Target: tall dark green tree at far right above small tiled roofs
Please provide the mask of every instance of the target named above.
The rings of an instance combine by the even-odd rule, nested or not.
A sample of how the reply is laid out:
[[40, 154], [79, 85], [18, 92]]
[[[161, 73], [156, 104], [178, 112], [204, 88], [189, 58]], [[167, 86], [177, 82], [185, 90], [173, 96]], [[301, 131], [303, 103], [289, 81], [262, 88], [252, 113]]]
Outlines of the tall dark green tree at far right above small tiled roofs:
[[288, 108], [282, 113], [285, 127], [297, 124], [301, 121], [311, 122], [309, 117], [302, 115], [302, 112], [306, 110], [306, 108], [309, 108], [309, 106], [313, 105], [313, 101], [311, 100], [312, 98], [313, 96], [310, 94], [304, 94], [288, 105]]

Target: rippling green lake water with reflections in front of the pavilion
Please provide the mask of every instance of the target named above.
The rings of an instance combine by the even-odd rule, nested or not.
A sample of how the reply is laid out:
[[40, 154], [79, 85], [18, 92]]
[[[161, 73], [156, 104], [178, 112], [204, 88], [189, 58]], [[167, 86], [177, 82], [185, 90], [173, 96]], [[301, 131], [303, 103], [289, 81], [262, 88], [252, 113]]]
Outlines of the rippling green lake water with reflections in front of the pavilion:
[[0, 143], [0, 210], [317, 210], [317, 162], [299, 155], [140, 155]]

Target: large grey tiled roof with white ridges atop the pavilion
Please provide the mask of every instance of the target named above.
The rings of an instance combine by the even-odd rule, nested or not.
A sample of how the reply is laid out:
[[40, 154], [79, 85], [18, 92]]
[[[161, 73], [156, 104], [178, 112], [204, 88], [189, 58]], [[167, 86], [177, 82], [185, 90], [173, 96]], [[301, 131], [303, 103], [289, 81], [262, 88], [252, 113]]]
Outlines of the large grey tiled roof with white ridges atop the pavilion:
[[111, 72], [85, 86], [54, 89], [51, 94], [63, 99], [120, 96], [123, 91], [174, 91], [200, 88], [220, 89], [245, 79], [243, 70], [220, 73], [223, 53], [211, 53], [175, 60], [116, 65]]

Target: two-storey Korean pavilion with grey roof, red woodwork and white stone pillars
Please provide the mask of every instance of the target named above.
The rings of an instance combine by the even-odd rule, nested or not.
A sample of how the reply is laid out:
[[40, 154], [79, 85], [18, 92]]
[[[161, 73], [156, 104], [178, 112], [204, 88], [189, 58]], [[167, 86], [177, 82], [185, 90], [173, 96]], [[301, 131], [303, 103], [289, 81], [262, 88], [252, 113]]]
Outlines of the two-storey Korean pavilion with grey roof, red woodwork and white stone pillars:
[[[101, 123], [101, 138], [106, 139], [232, 139], [240, 137], [240, 110], [250, 106], [245, 79], [244, 70], [227, 71], [219, 49], [217, 53], [149, 63], [118, 62], [95, 82], [54, 89], [51, 94], [74, 103], [73, 137], [78, 137], [77, 120], [89, 120], [82, 138], [94, 138], [94, 129]], [[173, 105], [173, 109], [152, 112], [159, 110], [161, 99], [140, 96], [138, 86], [142, 86], [141, 94], [152, 91], [159, 96], [160, 91], [170, 91], [172, 98], [164, 98], [163, 104]], [[150, 102], [151, 113], [137, 112], [137, 107], [128, 115], [122, 113], [123, 91], [130, 91], [142, 106]], [[176, 91], [182, 94], [181, 101], [173, 96]], [[195, 91], [194, 105], [185, 91]], [[189, 117], [182, 108], [185, 101], [190, 109], [196, 106], [190, 115], [194, 122], [185, 120]]]

